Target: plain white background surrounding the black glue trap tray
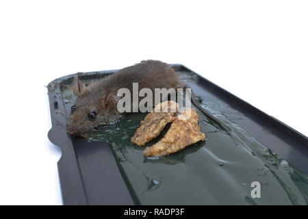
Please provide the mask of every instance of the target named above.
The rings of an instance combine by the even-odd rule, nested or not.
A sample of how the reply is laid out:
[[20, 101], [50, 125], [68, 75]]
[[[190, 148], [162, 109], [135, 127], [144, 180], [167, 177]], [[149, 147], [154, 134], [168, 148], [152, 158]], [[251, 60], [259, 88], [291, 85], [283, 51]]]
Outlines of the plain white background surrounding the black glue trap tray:
[[1, 1], [0, 204], [62, 204], [46, 86], [155, 59], [308, 136], [307, 1]]

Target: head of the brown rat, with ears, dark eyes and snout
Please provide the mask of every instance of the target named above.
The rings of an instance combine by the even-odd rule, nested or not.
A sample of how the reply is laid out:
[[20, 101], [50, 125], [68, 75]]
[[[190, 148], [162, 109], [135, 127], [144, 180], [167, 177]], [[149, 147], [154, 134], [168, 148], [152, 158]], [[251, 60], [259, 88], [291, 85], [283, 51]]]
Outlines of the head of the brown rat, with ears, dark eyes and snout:
[[67, 131], [71, 135], [81, 135], [98, 129], [119, 117], [114, 92], [88, 88], [78, 77], [74, 78], [72, 88], [77, 100], [66, 121]]

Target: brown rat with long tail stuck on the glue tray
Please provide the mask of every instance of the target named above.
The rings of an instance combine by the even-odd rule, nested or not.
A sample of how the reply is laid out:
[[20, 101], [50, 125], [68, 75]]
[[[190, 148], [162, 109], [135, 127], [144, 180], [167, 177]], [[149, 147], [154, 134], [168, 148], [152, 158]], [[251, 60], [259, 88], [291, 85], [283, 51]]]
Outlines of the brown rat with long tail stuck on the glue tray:
[[[128, 88], [132, 94], [133, 83], [137, 82], [139, 90], [150, 88], [153, 93], [155, 88], [190, 88], [179, 79], [171, 66], [156, 60], [146, 60], [123, 68], [112, 75], [99, 79], [90, 86], [86, 86], [76, 76], [72, 89], [77, 100], [71, 107], [70, 116], [66, 121], [68, 133], [73, 136], [82, 136], [83, 133], [116, 121], [121, 115], [117, 110], [118, 90]], [[207, 114], [196, 100], [193, 92], [192, 103]], [[211, 120], [219, 123], [214, 116], [208, 116]]]

